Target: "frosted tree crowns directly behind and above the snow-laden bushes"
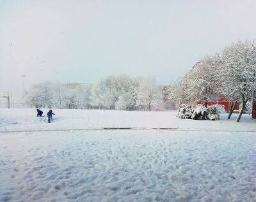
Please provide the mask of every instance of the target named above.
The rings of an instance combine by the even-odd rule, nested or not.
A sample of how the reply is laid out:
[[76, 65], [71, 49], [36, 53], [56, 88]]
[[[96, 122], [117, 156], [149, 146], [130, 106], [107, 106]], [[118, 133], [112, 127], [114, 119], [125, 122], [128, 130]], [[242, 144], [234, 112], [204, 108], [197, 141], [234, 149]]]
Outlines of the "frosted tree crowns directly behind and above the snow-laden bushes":
[[219, 96], [217, 67], [220, 65], [218, 55], [204, 57], [197, 62], [186, 75], [170, 85], [169, 99], [175, 101], [177, 108], [183, 103], [216, 101]]

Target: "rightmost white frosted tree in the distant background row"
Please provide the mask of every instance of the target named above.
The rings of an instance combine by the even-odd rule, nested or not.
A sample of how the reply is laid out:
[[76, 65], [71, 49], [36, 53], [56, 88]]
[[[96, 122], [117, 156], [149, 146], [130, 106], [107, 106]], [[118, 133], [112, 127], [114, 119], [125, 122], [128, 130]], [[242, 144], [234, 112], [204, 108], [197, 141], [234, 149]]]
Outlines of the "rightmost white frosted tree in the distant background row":
[[137, 91], [136, 105], [139, 108], [151, 111], [152, 106], [163, 103], [161, 87], [157, 85], [154, 77], [140, 78], [140, 86]]

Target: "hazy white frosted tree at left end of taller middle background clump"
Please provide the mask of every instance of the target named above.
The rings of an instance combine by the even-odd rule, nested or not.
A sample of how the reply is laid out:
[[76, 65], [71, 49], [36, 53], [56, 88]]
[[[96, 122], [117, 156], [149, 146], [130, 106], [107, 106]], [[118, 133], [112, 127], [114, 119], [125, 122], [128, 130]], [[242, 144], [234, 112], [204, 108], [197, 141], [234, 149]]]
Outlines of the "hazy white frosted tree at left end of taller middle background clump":
[[91, 105], [97, 108], [110, 108], [113, 105], [113, 95], [104, 80], [92, 84]]

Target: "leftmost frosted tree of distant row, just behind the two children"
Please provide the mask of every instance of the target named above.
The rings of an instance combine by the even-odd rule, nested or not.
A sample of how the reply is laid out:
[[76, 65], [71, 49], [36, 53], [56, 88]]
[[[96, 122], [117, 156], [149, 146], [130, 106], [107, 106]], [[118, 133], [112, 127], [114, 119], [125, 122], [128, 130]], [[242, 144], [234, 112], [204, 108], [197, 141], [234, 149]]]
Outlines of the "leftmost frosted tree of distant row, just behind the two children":
[[26, 101], [29, 104], [35, 105], [36, 108], [51, 108], [52, 106], [52, 83], [43, 82], [36, 83], [28, 92]]

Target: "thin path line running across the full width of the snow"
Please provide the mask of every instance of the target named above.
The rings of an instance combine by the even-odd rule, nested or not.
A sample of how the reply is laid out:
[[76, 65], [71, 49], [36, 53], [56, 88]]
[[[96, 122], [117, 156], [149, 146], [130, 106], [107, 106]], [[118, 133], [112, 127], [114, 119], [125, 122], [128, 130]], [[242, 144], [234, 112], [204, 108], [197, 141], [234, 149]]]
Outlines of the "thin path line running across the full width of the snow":
[[186, 129], [178, 127], [100, 127], [100, 128], [85, 128], [85, 129], [47, 129], [47, 130], [20, 130], [20, 131], [0, 131], [0, 133], [26, 133], [26, 132], [49, 132], [49, 131], [195, 131], [195, 132], [236, 132], [236, 133], [256, 133], [256, 130], [218, 130], [218, 129]]

